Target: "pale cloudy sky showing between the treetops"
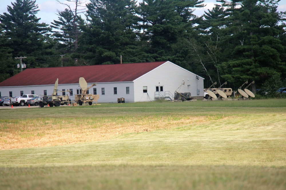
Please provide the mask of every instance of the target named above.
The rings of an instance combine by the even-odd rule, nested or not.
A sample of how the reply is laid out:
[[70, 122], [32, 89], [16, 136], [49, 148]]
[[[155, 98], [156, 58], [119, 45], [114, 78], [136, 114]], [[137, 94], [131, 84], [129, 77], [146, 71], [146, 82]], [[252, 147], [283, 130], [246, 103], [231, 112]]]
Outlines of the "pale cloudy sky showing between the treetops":
[[[82, 0], [83, 2], [85, 0]], [[0, 14], [7, 12], [7, 6], [11, 6], [11, 2], [15, 2], [15, 0], [0, 0], [1, 7], [0, 7]], [[61, 2], [67, 3], [65, 0], [61, 0]], [[86, 3], [89, 3], [89, 0], [86, 0]], [[39, 12], [37, 14], [38, 18], [41, 18], [40, 23], [51, 24], [53, 20], [58, 20], [58, 16], [55, 14], [57, 13], [57, 9], [62, 11], [67, 8], [65, 5], [61, 5], [56, 2], [56, 0], [36, 0], [36, 4], [39, 6]], [[204, 8], [196, 8], [194, 14], [200, 16], [204, 14], [204, 11], [207, 9], [212, 9], [214, 4], [216, 4], [215, 0], [205, 0], [204, 4], [206, 7]], [[286, 0], [281, 0], [279, 2], [278, 11], [286, 11]], [[85, 17], [83, 17], [85, 18]]]

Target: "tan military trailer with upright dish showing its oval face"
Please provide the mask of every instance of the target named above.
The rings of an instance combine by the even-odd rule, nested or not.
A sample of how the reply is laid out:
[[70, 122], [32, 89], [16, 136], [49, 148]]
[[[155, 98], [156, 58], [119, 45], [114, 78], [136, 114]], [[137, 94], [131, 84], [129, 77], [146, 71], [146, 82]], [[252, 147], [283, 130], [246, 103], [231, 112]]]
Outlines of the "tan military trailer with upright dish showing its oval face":
[[97, 104], [99, 95], [87, 94], [88, 89], [90, 89], [93, 86], [96, 86], [96, 84], [92, 84], [90, 87], [88, 87], [88, 83], [86, 82], [84, 77], [80, 77], [79, 83], [80, 83], [80, 88], [82, 89], [82, 93], [75, 95], [74, 101], [78, 103], [80, 106], [82, 105], [82, 103], [84, 104], [88, 103], [89, 105], [92, 105], [94, 101], [96, 101]]

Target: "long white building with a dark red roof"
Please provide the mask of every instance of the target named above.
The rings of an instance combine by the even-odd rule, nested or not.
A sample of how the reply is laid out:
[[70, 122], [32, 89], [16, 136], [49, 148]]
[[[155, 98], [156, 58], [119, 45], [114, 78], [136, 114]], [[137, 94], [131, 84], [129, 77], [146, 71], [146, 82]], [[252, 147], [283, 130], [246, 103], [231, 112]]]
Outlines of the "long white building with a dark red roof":
[[58, 95], [68, 89], [73, 100], [81, 91], [80, 77], [88, 87], [97, 84], [89, 93], [100, 96], [98, 103], [114, 103], [122, 97], [125, 102], [173, 99], [175, 91], [191, 93], [194, 99], [204, 96], [204, 78], [169, 61], [26, 69], [0, 83], [0, 96], [51, 95], [58, 78]]

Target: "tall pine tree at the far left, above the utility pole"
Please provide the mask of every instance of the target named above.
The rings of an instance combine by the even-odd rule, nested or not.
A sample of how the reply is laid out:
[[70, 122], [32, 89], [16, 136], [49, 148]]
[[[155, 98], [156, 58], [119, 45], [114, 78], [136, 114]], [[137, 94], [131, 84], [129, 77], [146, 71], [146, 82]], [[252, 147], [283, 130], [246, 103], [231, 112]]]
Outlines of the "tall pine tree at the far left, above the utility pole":
[[49, 42], [50, 28], [45, 23], [39, 23], [40, 18], [35, 16], [39, 11], [35, 3], [35, 0], [16, 0], [7, 7], [8, 13], [0, 15], [5, 47], [12, 50], [13, 57], [26, 56], [28, 67], [37, 65], [35, 57], [51, 54], [45, 44]]

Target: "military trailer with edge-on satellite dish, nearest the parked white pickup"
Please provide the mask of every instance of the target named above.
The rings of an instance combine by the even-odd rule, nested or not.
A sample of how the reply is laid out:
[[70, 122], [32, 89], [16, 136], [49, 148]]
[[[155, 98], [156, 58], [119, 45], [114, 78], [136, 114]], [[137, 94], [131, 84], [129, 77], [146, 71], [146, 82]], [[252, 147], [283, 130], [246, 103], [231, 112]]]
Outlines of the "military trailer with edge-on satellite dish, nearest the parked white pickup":
[[[57, 95], [57, 85], [58, 85], [58, 80], [55, 81], [55, 87], [53, 89], [53, 95], [51, 96], [43, 96], [43, 102], [40, 102], [39, 105], [40, 107], [44, 107], [45, 105], [49, 105], [49, 107], [58, 107], [60, 105], [69, 105], [69, 96], [68, 95], [62, 95], [59, 96]], [[61, 92], [69, 92], [67, 91], [61, 91]]]

